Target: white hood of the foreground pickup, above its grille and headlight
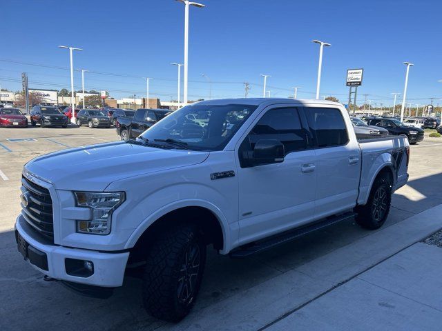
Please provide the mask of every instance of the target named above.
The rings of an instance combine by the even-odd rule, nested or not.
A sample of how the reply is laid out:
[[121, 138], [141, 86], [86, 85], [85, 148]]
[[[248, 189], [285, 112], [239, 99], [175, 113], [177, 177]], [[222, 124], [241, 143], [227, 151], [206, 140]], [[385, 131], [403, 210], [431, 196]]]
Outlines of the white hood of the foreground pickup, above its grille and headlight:
[[119, 141], [46, 154], [27, 163], [24, 171], [59, 190], [103, 191], [113, 181], [201, 163], [208, 156]]

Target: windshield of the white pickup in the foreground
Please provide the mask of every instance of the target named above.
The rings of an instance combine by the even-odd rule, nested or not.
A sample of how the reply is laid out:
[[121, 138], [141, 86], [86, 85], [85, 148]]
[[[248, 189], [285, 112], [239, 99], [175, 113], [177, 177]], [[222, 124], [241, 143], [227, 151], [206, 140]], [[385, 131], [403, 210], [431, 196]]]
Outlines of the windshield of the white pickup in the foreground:
[[144, 131], [142, 139], [149, 143], [179, 141], [190, 150], [222, 150], [256, 108], [238, 104], [186, 106]]

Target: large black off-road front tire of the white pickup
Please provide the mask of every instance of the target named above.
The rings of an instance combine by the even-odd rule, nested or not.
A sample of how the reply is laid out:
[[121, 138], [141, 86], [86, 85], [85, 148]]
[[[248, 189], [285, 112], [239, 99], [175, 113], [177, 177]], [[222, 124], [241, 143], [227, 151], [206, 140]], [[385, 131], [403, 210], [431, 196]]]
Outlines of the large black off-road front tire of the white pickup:
[[[142, 291], [144, 308], [164, 321], [183, 319], [195, 303], [205, 262], [206, 244], [196, 225], [174, 225], [160, 232], [147, 253]], [[189, 292], [184, 290], [189, 288]]]

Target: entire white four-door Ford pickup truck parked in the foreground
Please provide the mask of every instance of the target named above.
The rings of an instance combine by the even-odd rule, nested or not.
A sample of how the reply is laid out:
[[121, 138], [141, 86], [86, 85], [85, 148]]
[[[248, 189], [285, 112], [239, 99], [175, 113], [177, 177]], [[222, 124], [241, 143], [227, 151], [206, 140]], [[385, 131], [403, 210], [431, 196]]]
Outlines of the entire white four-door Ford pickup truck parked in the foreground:
[[140, 268], [146, 310], [179, 321], [207, 245], [247, 257], [353, 217], [379, 228], [409, 159], [405, 136], [358, 142], [340, 103], [193, 103], [137, 139], [28, 162], [17, 247], [47, 279], [85, 294], [104, 297]]

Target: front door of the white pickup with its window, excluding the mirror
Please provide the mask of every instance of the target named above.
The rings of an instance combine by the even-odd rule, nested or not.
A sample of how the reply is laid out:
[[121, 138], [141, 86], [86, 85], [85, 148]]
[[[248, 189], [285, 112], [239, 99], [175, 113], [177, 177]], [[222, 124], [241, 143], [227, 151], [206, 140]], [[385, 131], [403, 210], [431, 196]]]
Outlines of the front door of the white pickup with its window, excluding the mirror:
[[[314, 215], [316, 157], [298, 108], [278, 106], [260, 114], [238, 148], [240, 244], [307, 223]], [[282, 163], [244, 164], [255, 143], [276, 139], [285, 147]]]

